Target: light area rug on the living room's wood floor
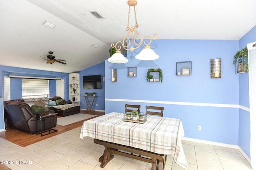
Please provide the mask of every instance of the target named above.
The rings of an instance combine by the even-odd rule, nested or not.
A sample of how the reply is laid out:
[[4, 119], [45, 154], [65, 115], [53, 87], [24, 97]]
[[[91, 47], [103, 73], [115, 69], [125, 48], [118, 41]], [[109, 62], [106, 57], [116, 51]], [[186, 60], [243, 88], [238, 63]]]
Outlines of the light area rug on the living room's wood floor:
[[74, 115], [69, 115], [65, 117], [60, 117], [57, 119], [57, 125], [69, 125], [71, 123], [75, 123], [84, 119], [88, 119], [91, 117], [96, 117], [97, 115], [89, 115], [89, 114], [83, 114], [83, 113], [77, 113]]

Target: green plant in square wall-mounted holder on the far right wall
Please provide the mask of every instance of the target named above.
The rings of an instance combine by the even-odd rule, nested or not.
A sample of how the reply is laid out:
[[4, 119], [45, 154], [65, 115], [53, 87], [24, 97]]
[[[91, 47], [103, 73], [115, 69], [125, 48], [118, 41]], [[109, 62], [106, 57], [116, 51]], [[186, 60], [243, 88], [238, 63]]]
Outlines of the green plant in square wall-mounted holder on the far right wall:
[[[247, 63], [245, 63], [247, 62]], [[241, 51], [236, 52], [233, 58], [233, 64], [238, 63], [238, 68], [236, 72], [248, 72], [248, 49], [247, 47], [243, 48]]]

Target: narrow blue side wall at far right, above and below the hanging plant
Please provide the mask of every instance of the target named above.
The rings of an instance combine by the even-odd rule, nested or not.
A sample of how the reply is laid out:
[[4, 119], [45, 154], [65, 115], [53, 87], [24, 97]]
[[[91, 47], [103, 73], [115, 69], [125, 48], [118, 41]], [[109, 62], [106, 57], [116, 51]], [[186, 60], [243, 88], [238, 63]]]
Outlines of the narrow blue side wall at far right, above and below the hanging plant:
[[[256, 41], [256, 26], [252, 28], [239, 41], [239, 49], [243, 49], [248, 43]], [[239, 104], [250, 107], [248, 73], [239, 74]], [[239, 111], [239, 147], [250, 158], [250, 112], [249, 108]]]

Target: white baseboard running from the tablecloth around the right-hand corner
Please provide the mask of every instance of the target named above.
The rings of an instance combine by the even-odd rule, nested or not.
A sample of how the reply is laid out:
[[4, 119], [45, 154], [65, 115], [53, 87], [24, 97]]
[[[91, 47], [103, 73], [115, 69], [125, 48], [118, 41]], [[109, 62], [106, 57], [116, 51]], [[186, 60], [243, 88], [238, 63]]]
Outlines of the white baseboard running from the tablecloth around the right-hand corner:
[[218, 142], [212, 142], [212, 141], [204, 141], [200, 139], [193, 139], [193, 138], [188, 138], [188, 137], [182, 137], [181, 138], [184, 141], [190, 141], [190, 142], [197, 142], [197, 143], [204, 143], [208, 145], [215, 145], [219, 147], [226, 147], [226, 148], [232, 148], [232, 149], [238, 149], [239, 152], [244, 156], [244, 158], [251, 164], [251, 159], [244, 153], [244, 151], [238, 146], [238, 145], [230, 145], [226, 143], [218, 143]]

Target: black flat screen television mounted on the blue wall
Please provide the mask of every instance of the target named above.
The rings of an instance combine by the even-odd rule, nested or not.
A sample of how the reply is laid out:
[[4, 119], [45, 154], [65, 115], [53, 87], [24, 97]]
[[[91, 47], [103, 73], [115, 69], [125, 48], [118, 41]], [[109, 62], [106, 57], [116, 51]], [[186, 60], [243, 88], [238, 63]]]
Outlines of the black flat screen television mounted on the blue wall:
[[83, 89], [101, 88], [101, 75], [83, 76]]

